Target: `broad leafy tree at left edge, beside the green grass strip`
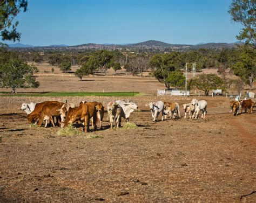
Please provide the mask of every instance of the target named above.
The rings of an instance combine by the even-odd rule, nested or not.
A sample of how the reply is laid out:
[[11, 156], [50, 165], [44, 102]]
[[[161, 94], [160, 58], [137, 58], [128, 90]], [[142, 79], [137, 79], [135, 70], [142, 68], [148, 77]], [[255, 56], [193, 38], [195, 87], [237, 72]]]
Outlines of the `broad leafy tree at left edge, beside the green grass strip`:
[[37, 88], [40, 83], [33, 76], [36, 72], [35, 66], [29, 66], [21, 59], [11, 59], [0, 65], [0, 86], [11, 88], [13, 93], [17, 93], [17, 88]]

